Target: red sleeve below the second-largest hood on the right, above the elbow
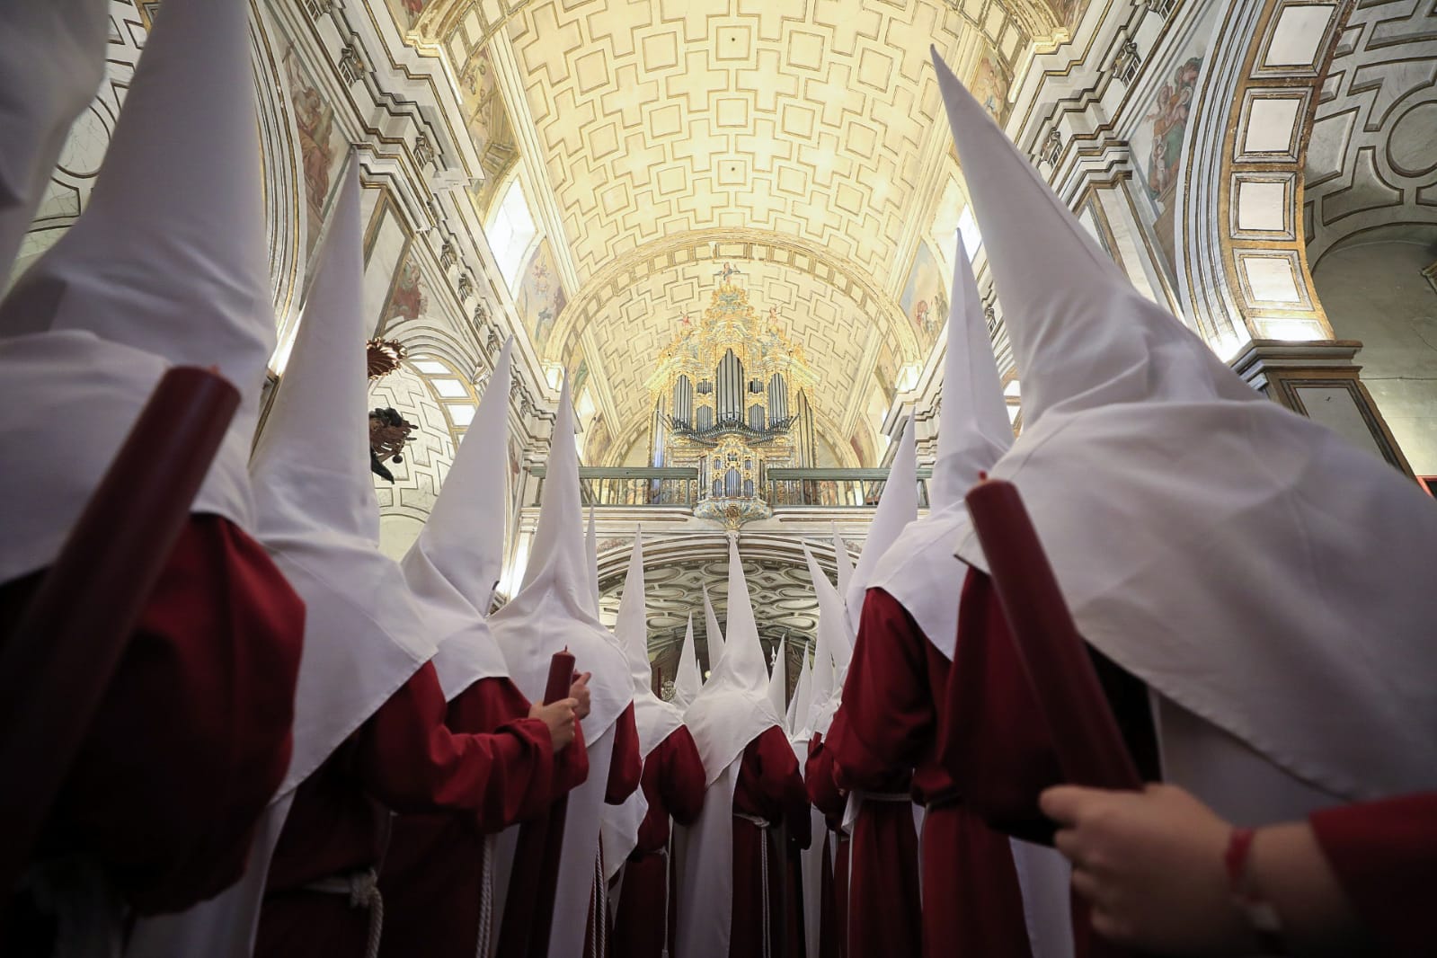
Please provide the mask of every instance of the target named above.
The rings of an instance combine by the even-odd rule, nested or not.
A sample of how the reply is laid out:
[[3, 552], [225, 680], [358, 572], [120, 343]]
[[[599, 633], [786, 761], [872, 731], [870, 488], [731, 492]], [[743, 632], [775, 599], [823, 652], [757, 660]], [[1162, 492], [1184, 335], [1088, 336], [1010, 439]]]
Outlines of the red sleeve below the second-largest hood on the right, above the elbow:
[[828, 730], [835, 777], [845, 789], [882, 791], [911, 770], [937, 735], [927, 678], [928, 641], [898, 600], [869, 589], [844, 682], [846, 721]]

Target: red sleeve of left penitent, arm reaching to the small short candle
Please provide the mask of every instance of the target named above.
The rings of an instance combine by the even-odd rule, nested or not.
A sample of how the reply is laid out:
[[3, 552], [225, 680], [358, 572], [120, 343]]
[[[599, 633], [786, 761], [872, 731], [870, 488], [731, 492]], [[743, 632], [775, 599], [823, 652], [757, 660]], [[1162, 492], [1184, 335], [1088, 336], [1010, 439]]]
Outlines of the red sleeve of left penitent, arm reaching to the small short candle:
[[394, 811], [473, 810], [487, 827], [514, 820], [530, 790], [553, 776], [549, 727], [520, 718], [457, 735], [444, 724], [444, 691], [427, 662], [361, 727], [358, 771]]

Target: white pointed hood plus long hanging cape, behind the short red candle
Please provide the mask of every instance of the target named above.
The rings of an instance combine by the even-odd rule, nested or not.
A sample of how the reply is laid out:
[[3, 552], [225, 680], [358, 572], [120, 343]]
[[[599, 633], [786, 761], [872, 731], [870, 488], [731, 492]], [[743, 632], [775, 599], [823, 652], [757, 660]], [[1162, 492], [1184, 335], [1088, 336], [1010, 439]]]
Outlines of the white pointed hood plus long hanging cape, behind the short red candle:
[[599, 850], [599, 813], [614, 757], [614, 728], [634, 701], [628, 659], [598, 619], [579, 504], [579, 455], [573, 447], [573, 404], [565, 381], [549, 447], [549, 462], [519, 593], [489, 623], [509, 674], [530, 701], [542, 701], [555, 652], [569, 649], [575, 668], [593, 672], [591, 712], [583, 720], [589, 777], [569, 793], [563, 859], [555, 898], [550, 958], [583, 951], [583, 926]]

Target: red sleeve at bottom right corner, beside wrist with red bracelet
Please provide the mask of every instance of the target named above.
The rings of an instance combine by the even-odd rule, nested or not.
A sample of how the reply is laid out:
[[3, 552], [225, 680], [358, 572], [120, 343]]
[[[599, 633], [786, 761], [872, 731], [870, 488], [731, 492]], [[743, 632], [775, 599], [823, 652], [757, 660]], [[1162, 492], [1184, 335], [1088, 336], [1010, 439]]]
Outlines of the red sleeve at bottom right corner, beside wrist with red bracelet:
[[1387, 954], [1430, 955], [1437, 939], [1437, 791], [1309, 816], [1338, 883]]

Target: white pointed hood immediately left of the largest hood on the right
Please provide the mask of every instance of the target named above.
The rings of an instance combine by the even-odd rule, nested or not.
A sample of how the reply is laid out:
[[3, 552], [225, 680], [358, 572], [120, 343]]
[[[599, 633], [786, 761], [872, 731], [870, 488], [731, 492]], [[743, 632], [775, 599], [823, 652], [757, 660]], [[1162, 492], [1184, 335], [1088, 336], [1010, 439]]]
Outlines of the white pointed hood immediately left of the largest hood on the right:
[[993, 343], [983, 319], [983, 300], [961, 236], [953, 263], [938, 460], [928, 484], [928, 514], [904, 527], [868, 582], [869, 587], [881, 587], [897, 599], [934, 648], [948, 658], [953, 658], [957, 639], [958, 593], [967, 575], [953, 556], [954, 546], [970, 529], [963, 496], [979, 481], [979, 473], [997, 462], [1013, 442]]

